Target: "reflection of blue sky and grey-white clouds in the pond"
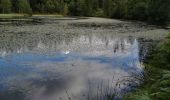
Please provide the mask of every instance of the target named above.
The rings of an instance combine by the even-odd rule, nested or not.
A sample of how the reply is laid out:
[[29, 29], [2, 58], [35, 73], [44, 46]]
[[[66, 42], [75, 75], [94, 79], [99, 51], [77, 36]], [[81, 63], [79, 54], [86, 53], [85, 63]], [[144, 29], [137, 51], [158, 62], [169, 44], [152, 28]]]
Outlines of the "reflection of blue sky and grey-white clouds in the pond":
[[0, 98], [19, 91], [31, 100], [95, 100], [99, 95], [104, 100], [129, 80], [138, 83], [133, 76], [142, 71], [133, 38], [82, 35], [69, 42], [40, 39], [35, 44], [31, 49], [15, 43], [10, 49], [1, 46]]

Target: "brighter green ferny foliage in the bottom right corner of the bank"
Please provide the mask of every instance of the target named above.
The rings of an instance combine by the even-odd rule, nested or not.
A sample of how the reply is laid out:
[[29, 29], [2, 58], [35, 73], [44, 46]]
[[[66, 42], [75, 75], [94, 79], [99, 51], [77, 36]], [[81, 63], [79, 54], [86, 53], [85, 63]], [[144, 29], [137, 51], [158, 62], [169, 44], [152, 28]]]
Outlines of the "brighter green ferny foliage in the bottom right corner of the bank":
[[126, 94], [125, 100], [170, 100], [170, 72], [168, 75], [166, 73], [166, 78], [162, 72], [163, 70], [157, 69], [156, 72], [150, 73], [144, 86]]

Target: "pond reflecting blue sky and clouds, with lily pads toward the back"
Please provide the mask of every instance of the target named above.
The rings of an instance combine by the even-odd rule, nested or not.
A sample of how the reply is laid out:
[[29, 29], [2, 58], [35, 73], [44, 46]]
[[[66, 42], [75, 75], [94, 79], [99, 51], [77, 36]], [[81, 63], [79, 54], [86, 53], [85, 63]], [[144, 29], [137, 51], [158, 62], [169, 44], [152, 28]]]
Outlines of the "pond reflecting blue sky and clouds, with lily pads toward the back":
[[153, 41], [134, 26], [51, 22], [0, 26], [0, 100], [107, 100], [140, 85]]

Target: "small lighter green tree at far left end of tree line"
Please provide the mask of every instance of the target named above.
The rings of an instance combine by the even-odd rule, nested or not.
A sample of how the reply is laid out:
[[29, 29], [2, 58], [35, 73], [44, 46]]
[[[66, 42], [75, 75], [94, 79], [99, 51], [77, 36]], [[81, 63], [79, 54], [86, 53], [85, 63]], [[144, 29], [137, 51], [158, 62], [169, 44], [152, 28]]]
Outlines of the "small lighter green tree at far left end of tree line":
[[10, 0], [0, 0], [0, 9], [2, 13], [10, 13], [12, 4]]

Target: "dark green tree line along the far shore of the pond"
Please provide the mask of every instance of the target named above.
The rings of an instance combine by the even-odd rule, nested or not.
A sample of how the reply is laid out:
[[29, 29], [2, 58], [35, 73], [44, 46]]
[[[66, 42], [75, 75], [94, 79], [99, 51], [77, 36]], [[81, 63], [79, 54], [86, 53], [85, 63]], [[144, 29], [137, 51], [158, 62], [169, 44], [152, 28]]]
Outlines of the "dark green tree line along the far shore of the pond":
[[58, 13], [167, 22], [170, 0], [0, 0], [0, 13]]

